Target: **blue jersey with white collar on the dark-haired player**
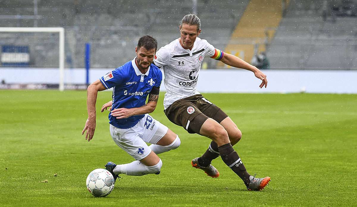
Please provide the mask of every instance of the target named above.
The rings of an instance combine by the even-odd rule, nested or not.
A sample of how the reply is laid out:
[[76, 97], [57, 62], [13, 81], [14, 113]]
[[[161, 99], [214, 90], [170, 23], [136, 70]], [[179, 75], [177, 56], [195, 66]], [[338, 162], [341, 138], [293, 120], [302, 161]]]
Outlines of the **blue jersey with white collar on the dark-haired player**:
[[[135, 58], [100, 78], [105, 88], [113, 88], [112, 110], [144, 106], [152, 87], [160, 87], [161, 80], [162, 73], [158, 67], [151, 64], [147, 72], [142, 74], [135, 64]], [[143, 117], [144, 115], [135, 115], [116, 119], [109, 114], [109, 123], [121, 129], [128, 129]]]

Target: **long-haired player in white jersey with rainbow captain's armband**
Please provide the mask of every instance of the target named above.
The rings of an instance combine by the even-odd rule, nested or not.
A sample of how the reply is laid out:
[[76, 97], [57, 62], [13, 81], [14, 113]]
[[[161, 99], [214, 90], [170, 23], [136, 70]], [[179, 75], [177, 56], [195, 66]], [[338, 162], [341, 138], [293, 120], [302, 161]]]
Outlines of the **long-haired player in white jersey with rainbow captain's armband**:
[[270, 181], [270, 177], [251, 176], [232, 148], [232, 145], [241, 139], [241, 131], [225, 112], [196, 90], [196, 84], [205, 57], [252, 71], [262, 80], [260, 88], [267, 86], [266, 75], [242, 59], [224, 53], [207, 40], [198, 38], [201, 33], [201, 22], [196, 15], [184, 16], [178, 27], [181, 37], [160, 48], [155, 55], [154, 64], [164, 69], [167, 90], [164, 111], [167, 118], [182, 126], [188, 133], [212, 139], [206, 152], [191, 161], [192, 167], [204, 170], [211, 177], [218, 177], [219, 172], [211, 165], [211, 161], [221, 156], [223, 162], [243, 180], [248, 190], [263, 189]]

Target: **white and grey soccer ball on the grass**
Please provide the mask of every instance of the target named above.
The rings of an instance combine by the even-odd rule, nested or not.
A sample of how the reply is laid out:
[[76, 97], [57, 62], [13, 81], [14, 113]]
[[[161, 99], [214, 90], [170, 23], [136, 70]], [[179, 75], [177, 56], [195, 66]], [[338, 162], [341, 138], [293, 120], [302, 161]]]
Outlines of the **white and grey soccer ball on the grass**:
[[87, 189], [95, 197], [104, 197], [114, 188], [114, 177], [106, 169], [95, 169], [87, 177]]

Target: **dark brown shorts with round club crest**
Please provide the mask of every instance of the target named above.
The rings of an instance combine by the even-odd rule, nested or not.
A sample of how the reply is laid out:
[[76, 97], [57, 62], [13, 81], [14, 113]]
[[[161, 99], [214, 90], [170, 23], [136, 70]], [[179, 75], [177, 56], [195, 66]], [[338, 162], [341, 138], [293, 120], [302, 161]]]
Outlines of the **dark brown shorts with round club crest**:
[[172, 123], [182, 126], [190, 134], [200, 134], [200, 129], [208, 118], [220, 123], [228, 117], [220, 107], [212, 104], [201, 94], [177, 100], [164, 112]]

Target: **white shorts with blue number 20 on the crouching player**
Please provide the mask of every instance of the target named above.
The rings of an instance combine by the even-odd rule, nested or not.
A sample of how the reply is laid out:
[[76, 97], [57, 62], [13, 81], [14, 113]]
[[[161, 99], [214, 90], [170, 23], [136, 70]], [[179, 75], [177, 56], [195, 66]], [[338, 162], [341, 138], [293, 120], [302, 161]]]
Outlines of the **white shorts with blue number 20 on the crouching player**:
[[167, 126], [155, 120], [149, 114], [133, 127], [120, 129], [110, 125], [110, 135], [115, 144], [124, 149], [134, 159], [141, 160], [151, 153], [146, 143], [156, 144], [167, 133]]

